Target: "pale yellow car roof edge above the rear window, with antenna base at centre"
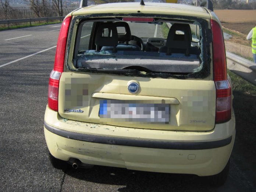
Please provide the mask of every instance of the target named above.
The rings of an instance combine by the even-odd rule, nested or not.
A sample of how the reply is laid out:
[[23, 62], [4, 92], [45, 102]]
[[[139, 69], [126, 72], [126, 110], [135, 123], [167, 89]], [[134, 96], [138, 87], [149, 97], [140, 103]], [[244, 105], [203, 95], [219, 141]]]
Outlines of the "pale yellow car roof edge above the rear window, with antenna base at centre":
[[144, 13], [144, 14], [163, 14], [163, 15], [185, 15], [200, 18], [210, 18], [208, 10], [204, 7], [196, 7], [185, 4], [175, 3], [145, 3], [141, 6], [140, 3], [107, 3], [88, 7], [82, 7], [75, 10], [72, 15], [86, 14], [104, 14], [104, 13]]

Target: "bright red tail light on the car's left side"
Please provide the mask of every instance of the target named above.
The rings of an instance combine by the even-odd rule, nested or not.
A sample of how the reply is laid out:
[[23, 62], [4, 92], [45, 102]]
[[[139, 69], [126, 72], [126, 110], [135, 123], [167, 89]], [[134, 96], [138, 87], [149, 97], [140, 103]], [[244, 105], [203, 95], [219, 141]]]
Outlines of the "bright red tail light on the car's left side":
[[55, 61], [53, 71], [51, 71], [48, 87], [48, 106], [54, 111], [58, 111], [58, 88], [61, 73], [63, 72], [65, 61], [65, 50], [68, 36], [68, 28], [71, 16], [66, 17], [62, 22], [60, 34], [58, 36]]

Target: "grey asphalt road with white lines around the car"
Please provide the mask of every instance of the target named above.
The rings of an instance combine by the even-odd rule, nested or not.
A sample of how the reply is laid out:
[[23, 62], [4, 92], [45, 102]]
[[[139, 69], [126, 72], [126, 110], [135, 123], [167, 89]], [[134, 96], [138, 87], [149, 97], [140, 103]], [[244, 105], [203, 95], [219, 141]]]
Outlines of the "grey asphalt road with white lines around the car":
[[[195, 175], [103, 166], [65, 171], [51, 167], [43, 118], [58, 29], [60, 24], [0, 32], [0, 191], [256, 191], [255, 165], [246, 159], [239, 139], [230, 175], [220, 188]], [[155, 28], [151, 31], [154, 35]], [[46, 51], [24, 58], [42, 50]], [[23, 59], [10, 63], [19, 58]]]

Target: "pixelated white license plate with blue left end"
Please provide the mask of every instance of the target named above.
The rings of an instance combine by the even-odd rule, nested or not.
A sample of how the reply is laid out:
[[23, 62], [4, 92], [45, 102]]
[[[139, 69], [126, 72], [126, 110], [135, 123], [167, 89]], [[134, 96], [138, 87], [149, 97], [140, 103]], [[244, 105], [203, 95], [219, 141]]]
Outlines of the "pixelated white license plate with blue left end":
[[123, 119], [124, 121], [169, 122], [169, 104], [131, 102], [100, 100], [99, 116], [100, 118]]

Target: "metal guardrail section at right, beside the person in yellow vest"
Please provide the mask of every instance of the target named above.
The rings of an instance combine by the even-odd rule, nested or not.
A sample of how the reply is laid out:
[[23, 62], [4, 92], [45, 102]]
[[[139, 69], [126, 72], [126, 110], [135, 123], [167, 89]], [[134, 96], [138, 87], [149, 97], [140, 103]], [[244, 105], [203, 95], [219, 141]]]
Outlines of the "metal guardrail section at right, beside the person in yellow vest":
[[256, 85], [256, 63], [226, 51], [227, 67], [246, 81]]

